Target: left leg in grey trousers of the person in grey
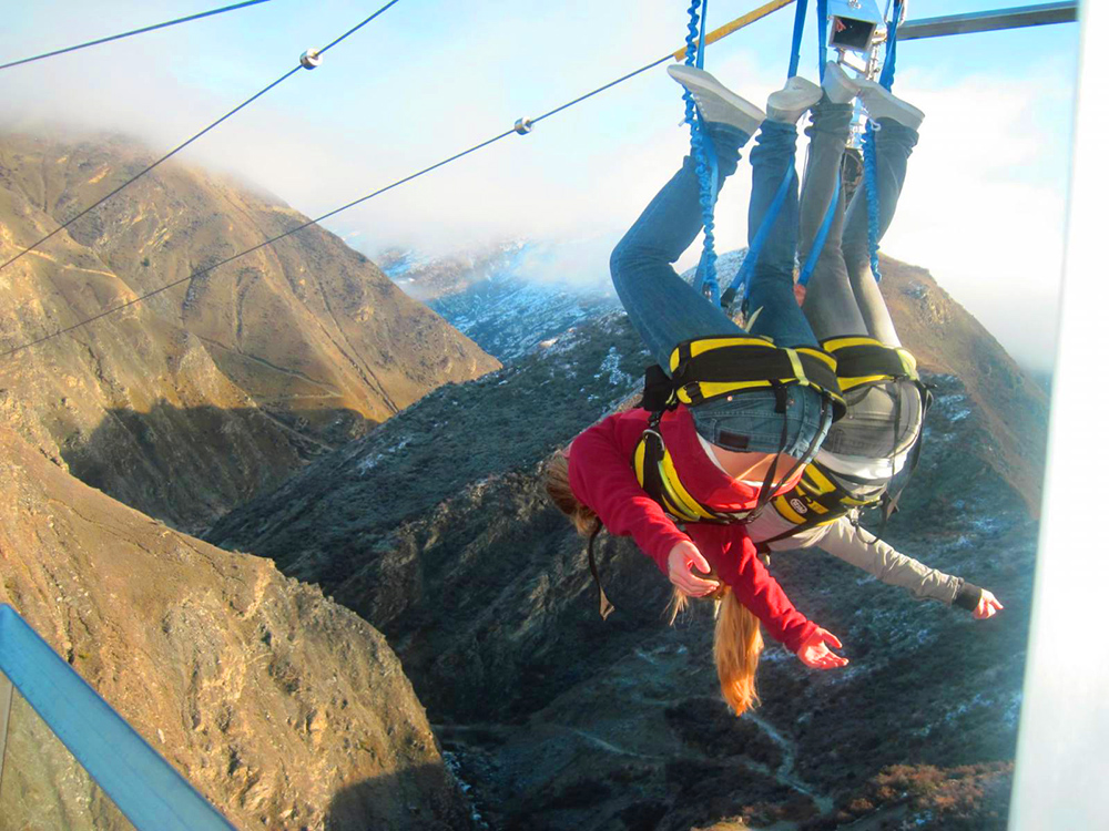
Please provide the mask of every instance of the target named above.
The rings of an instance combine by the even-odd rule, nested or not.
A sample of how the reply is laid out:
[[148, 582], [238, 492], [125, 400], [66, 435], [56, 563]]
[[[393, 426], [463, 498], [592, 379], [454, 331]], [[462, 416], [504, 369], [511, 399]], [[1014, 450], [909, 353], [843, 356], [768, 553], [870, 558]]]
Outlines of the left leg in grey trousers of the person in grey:
[[[810, 136], [808, 165], [805, 170], [805, 187], [801, 193], [801, 245], [800, 259], [802, 265], [812, 250], [813, 243], [824, 223], [828, 204], [836, 193], [836, 182], [840, 179], [840, 166], [843, 161], [844, 147], [851, 132], [853, 105], [832, 103], [827, 96], [813, 107], [813, 123], [805, 131]], [[844, 224], [844, 198], [840, 191], [834, 208], [831, 229], [824, 249], [808, 280], [805, 304], [802, 307], [805, 317], [813, 327], [813, 334], [818, 340], [841, 335], [864, 335], [866, 324], [863, 320], [840, 239]]]

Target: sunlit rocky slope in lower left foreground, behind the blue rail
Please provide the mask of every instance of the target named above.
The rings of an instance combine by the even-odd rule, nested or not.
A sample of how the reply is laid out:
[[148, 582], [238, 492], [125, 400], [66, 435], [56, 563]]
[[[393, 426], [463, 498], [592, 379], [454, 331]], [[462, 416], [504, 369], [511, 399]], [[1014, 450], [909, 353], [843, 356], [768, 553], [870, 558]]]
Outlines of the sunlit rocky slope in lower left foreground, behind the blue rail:
[[[373, 627], [269, 561], [88, 488], [8, 428], [0, 456], [0, 603], [236, 828], [469, 827], [424, 709]], [[26, 705], [8, 753], [3, 828], [130, 828]]]

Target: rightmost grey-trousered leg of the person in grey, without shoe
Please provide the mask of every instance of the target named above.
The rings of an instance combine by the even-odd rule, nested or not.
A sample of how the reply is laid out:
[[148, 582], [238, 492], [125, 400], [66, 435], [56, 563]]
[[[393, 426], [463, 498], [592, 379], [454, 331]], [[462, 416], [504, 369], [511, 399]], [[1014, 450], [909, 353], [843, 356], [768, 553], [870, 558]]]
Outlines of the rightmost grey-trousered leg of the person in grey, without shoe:
[[[916, 146], [918, 134], [913, 126], [902, 124], [892, 117], [881, 117], [877, 124], [879, 130], [875, 131], [875, 166], [879, 208], [878, 239], [882, 239], [897, 208], [897, 199], [905, 183], [908, 157]], [[901, 346], [897, 330], [878, 290], [878, 284], [871, 273], [868, 224], [866, 188], [861, 185], [852, 197], [844, 220], [844, 260], [867, 331], [883, 343]]]

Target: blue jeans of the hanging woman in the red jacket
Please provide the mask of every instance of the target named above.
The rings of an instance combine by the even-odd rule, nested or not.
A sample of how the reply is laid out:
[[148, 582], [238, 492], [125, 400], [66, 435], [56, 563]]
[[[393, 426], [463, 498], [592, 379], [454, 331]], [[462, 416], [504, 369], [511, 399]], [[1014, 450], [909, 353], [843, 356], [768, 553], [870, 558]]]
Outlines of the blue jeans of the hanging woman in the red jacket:
[[[743, 133], [714, 136], [721, 186], [735, 172], [739, 150], [750, 136]], [[764, 122], [759, 147], [752, 153], [754, 184], [749, 224], [757, 227], [774, 198], [792, 160], [797, 132], [792, 125]], [[686, 157], [680, 171], [651, 201], [635, 224], [612, 252], [612, 284], [624, 310], [655, 357], [670, 371], [670, 356], [686, 340], [712, 336], [747, 334], [718, 306], [709, 302], [683, 280], [673, 263], [689, 248], [702, 228], [701, 187], [693, 160]], [[779, 346], [816, 346], [816, 338], [797, 307], [793, 294], [793, 259], [796, 248], [797, 188], [783, 206], [766, 242], [752, 280], [752, 295], [762, 302], [751, 334], [766, 335]], [[788, 266], [785, 266], [786, 260]], [[787, 270], [787, 279], [783, 277]], [[722, 443], [721, 432], [745, 438], [742, 449], [776, 453], [782, 448], [783, 413], [776, 412], [773, 392], [754, 391], [719, 399], [691, 408], [698, 432], [712, 443]], [[810, 388], [790, 388], [786, 412], [785, 452], [801, 458], [818, 445], [827, 430], [823, 401]], [[728, 447], [726, 442], [723, 443]]]

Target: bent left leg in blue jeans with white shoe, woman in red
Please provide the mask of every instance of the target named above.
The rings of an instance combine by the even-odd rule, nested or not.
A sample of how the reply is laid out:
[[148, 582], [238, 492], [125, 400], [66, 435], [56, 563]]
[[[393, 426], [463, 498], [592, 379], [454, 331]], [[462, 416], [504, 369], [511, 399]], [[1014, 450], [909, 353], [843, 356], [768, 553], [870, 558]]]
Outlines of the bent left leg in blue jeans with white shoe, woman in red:
[[[762, 121], [762, 111], [722, 88], [706, 72], [674, 66], [671, 75], [693, 92], [705, 116], [705, 130], [716, 152], [723, 186], [735, 172], [740, 148]], [[702, 226], [696, 162], [686, 157], [681, 170], [620, 240], [610, 259], [612, 284], [632, 326], [668, 371], [670, 355], [682, 341], [744, 334], [671, 265], [689, 248]]]

